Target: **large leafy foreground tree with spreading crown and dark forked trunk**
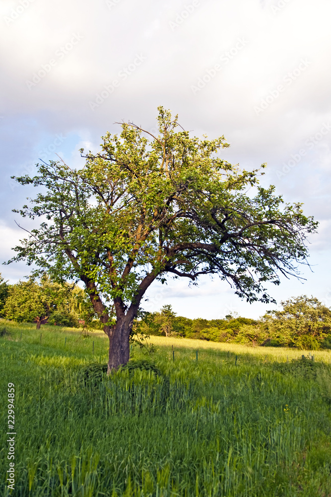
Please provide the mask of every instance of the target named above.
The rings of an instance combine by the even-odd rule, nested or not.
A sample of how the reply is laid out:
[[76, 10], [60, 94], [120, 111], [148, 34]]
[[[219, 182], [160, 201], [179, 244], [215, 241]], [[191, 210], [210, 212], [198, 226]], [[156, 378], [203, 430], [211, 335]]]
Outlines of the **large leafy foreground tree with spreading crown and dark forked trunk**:
[[301, 204], [259, 186], [259, 169], [219, 158], [223, 136], [191, 138], [176, 132], [177, 116], [158, 110], [158, 136], [123, 123], [120, 136], [102, 137], [99, 153], [81, 149], [84, 167], [51, 161], [34, 177], [15, 178], [39, 188], [15, 212], [43, 221], [11, 261], [83, 281], [109, 337], [109, 372], [129, 360], [133, 320], [153, 281], [171, 275], [196, 284], [218, 274], [239, 297], [269, 302], [264, 282], [299, 274], [306, 236], [317, 227]]

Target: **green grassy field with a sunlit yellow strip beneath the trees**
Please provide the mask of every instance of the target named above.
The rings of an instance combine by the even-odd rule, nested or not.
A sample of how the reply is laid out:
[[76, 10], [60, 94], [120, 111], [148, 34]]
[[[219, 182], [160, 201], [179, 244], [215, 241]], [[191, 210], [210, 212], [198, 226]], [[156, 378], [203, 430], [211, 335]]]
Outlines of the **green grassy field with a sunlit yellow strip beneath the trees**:
[[329, 351], [313, 362], [309, 351], [151, 337], [153, 366], [134, 347], [132, 367], [109, 378], [88, 367], [107, 362], [102, 332], [3, 327], [4, 497], [331, 496]]

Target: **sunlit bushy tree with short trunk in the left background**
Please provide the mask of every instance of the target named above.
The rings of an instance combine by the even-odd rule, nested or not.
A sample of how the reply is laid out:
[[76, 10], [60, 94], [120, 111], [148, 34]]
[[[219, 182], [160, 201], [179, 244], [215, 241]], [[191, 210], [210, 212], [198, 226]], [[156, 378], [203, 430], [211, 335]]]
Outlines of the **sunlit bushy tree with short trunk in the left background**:
[[47, 275], [40, 284], [33, 279], [11, 285], [2, 314], [18, 323], [36, 322], [61, 326], [77, 326], [79, 319], [88, 319], [94, 311], [83, 289], [52, 282]]

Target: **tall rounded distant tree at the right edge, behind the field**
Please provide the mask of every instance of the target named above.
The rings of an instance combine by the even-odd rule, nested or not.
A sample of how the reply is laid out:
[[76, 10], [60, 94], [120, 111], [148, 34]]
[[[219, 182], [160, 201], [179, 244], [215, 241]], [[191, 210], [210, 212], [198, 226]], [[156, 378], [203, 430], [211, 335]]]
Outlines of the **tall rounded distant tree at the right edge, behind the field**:
[[282, 310], [269, 311], [263, 317], [270, 338], [301, 349], [317, 349], [331, 333], [331, 309], [317, 298], [301, 295], [281, 302]]

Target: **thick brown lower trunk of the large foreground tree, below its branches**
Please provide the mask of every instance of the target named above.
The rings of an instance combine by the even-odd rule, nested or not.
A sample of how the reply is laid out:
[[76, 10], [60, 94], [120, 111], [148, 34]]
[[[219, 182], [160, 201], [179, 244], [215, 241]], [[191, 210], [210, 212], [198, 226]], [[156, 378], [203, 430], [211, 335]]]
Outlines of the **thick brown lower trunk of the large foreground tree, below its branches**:
[[105, 333], [109, 337], [109, 360], [108, 371], [117, 369], [121, 364], [126, 364], [130, 359], [129, 338], [132, 323], [127, 319], [118, 320], [115, 327], [104, 327]]

